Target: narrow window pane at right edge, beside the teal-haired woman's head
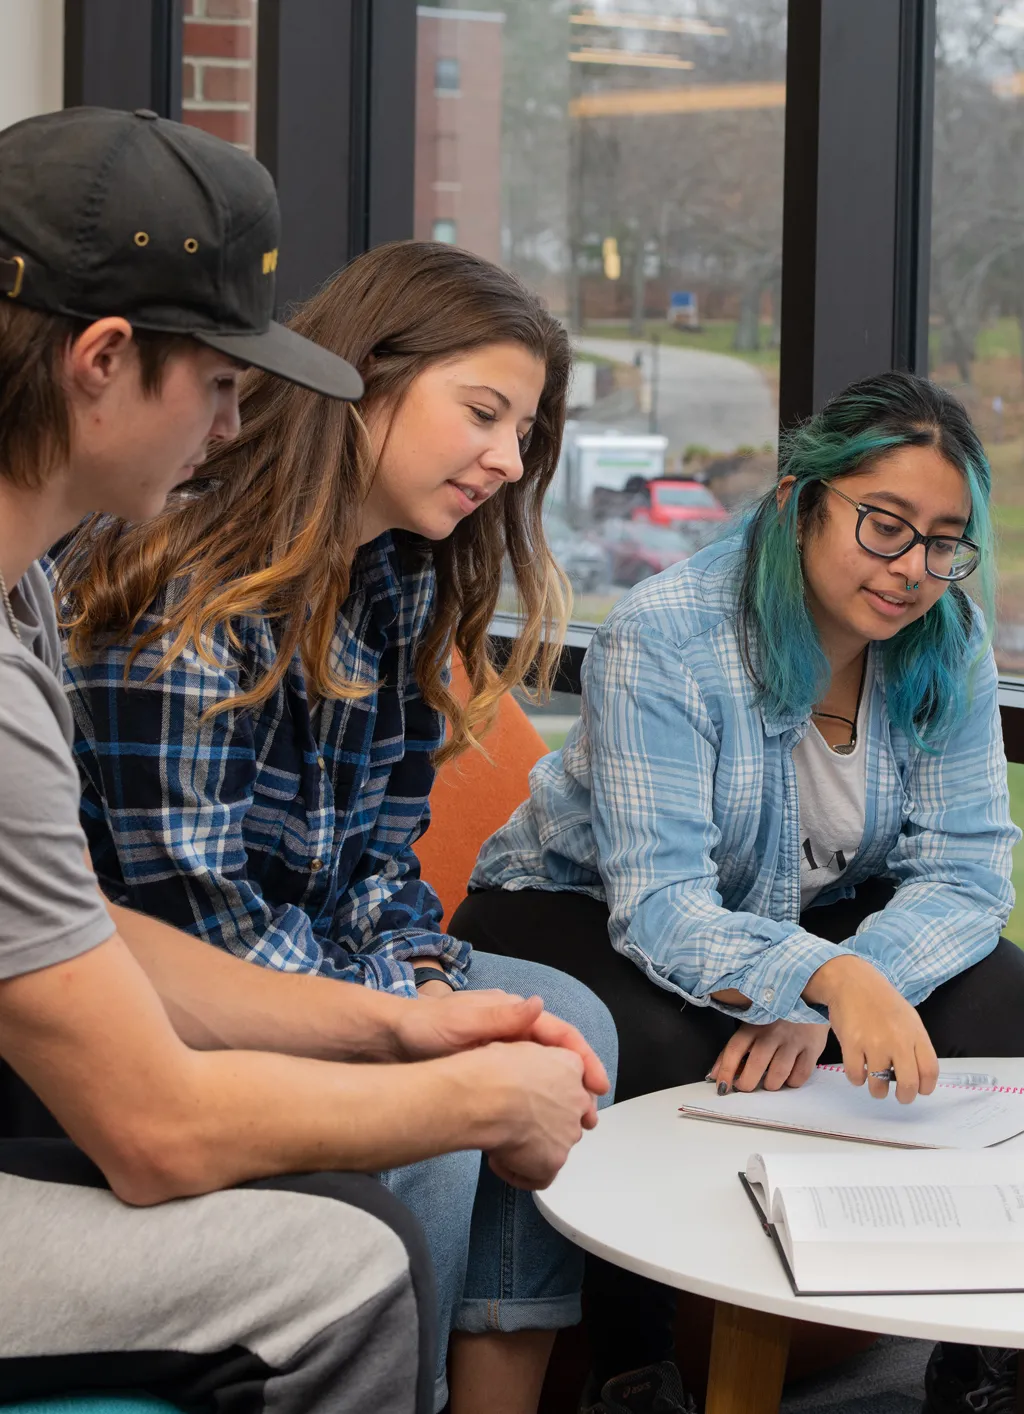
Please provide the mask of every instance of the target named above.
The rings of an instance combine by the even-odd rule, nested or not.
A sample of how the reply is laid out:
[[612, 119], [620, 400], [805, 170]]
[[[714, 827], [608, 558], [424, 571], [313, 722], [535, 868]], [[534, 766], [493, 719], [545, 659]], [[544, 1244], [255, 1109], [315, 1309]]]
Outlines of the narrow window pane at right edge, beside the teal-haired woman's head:
[[993, 467], [1000, 669], [1024, 673], [1024, 4], [939, 0], [932, 376]]

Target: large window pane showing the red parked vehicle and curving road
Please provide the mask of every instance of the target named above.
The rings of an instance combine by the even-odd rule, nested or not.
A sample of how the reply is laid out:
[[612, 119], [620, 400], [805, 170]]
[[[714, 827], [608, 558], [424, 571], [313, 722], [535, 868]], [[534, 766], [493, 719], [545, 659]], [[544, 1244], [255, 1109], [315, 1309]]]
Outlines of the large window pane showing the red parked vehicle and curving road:
[[571, 331], [547, 519], [593, 625], [774, 475], [786, 4], [417, 14], [416, 236], [504, 263]]

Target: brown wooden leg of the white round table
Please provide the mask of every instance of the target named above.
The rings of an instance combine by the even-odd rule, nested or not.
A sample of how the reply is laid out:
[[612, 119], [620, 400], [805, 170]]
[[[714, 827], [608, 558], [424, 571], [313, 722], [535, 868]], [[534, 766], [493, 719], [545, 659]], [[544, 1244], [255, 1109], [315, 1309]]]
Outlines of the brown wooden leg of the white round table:
[[778, 1414], [789, 1329], [788, 1316], [716, 1302], [706, 1414]]

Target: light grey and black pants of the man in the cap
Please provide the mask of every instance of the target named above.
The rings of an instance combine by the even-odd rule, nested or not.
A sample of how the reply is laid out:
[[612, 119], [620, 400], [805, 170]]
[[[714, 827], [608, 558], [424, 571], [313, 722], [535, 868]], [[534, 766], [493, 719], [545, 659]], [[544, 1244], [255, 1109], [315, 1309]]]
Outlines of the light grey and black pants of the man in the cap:
[[146, 1391], [194, 1414], [431, 1414], [416, 1219], [365, 1174], [119, 1203], [68, 1140], [0, 1141], [0, 1404]]

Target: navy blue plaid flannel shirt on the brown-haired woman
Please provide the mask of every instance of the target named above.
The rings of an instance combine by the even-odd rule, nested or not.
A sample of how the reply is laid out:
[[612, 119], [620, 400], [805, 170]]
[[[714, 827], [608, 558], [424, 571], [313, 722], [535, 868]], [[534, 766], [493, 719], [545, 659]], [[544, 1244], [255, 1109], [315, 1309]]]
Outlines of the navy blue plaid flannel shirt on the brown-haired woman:
[[362, 547], [334, 639], [335, 669], [378, 683], [355, 701], [311, 704], [296, 655], [260, 708], [204, 721], [274, 660], [262, 618], [235, 624], [238, 648], [219, 631], [214, 663], [188, 649], [151, 683], [170, 636], [127, 683], [132, 641], [88, 665], [65, 659], [82, 823], [106, 894], [266, 967], [413, 995], [413, 964], [440, 959], [464, 986], [470, 946], [441, 932], [413, 854], [444, 737], [414, 680], [433, 595], [412, 546], [383, 534]]

